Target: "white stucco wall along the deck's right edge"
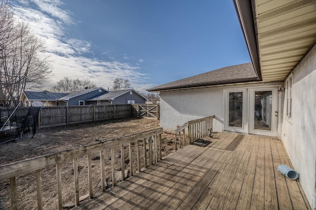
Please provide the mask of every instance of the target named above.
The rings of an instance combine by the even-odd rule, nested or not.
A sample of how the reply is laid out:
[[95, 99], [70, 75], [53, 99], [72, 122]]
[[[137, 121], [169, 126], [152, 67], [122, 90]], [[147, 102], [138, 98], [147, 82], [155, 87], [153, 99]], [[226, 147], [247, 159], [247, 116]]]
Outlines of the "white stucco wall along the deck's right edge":
[[286, 118], [284, 99], [282, 141], [294, 169], [300, 174], [307, 199], [315, 209], [316, 45], [294, 69], [292, 79], [292, 117], [291, 120]]

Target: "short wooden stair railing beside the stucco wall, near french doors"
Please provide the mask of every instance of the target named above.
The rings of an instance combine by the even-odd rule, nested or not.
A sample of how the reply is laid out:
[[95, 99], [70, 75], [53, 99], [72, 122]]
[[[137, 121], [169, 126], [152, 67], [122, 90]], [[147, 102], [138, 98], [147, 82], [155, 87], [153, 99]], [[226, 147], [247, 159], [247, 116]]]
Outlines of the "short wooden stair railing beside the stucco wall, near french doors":
[[178, 127], [174, 131], [175, 150], [177, 150], [177, 135], [179, 135], [179, 148], [181, 148], [181, 132], [183, 138], [183, 146], [185, 146], [186, 144], [186, 130], [188, 131], [189, 137], [188, 144], [191, 144], [192, 142], [196, 141], [199, 138], [202, 138], [203, 136], [209, 135], [213, 130], [213, 118], [215, 118], [215, 115], [197, 120], [191, 120]]

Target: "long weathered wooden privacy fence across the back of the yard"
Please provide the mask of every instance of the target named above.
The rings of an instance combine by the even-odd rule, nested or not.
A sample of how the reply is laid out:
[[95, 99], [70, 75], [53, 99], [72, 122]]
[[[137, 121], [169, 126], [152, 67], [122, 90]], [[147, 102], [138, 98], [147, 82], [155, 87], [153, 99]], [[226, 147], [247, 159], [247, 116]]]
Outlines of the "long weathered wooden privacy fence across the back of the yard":
[[[13, 112], [14, 108], [0, 109], [0, 117]], [[23, 119], [29, 107], [18, 107], [13, 116]], [[159, 119], [159, 105], [121, 104], [43, 107], [39, 115], [39, 127], [51, 127], [80, 122], [110, 120], [124, 117], [145, 117]]]

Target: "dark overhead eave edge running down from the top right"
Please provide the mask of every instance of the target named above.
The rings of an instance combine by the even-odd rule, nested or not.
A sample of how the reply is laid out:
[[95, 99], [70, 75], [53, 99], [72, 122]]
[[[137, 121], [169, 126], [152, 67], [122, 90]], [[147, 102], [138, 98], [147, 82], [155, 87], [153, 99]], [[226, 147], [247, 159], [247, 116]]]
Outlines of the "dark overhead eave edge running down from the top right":
[[233, 0], [248, 52], [259, 80], [262, 80], [252, 0]]

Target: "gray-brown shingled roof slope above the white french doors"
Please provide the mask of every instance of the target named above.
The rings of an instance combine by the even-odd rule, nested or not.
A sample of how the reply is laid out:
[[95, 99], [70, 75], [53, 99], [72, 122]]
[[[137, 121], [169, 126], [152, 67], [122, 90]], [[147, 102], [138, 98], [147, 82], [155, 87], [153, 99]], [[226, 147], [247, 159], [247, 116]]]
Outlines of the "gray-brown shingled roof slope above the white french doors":
[[148, 89], [147, 91], [173, 90], [252, 81], [258, 81], [253, 64], [243, 63], [177, 80]]

